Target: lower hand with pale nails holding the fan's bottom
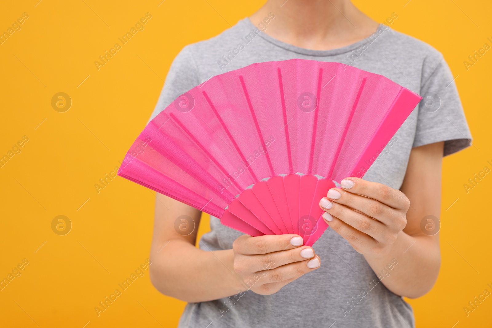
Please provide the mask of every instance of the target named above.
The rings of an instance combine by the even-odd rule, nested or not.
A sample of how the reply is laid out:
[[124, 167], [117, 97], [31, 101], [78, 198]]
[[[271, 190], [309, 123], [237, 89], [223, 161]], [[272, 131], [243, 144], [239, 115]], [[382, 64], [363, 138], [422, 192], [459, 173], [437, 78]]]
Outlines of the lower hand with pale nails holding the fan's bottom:
[[298, 235], [242, 235], [234, 240], [234, 271], [243, 279], [244, 289], [271, 295], [289, 282], [319, 268], [319, 256], [302, 246]]

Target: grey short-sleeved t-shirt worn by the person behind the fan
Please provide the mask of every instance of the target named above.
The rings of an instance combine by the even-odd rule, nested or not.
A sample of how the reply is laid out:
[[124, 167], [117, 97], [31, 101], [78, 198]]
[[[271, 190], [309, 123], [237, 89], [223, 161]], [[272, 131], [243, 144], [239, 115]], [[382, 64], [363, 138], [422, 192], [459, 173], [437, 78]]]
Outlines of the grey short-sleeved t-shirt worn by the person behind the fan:
[[[342, 62], [384, 75], [424, 97], [366, 173], [366, 180], [399, 189], [413, 147], [445, 141], [448, 155], [471, 143], [454, 78], [442, 55], [385, 25], [343, 48], [308, 50], [270, 37], [245, 18], [209, 40], [183, 48], [171, 65], [152, 118], [212, 76], [255, 62], [294, 58]], [[230, 249], [241, 235], [215, 217], [210, 226], [212, 231], [200, 240], [204, 250]], [[179, 327], [414, 327], [411, 306], [377, 279], [364, 256], [345, 239], [328, 228], [313, 248], [321, 267], [276, 294], [247, 291], [188, 303]], [[398, 261], [397, 256], [393, 264]]]

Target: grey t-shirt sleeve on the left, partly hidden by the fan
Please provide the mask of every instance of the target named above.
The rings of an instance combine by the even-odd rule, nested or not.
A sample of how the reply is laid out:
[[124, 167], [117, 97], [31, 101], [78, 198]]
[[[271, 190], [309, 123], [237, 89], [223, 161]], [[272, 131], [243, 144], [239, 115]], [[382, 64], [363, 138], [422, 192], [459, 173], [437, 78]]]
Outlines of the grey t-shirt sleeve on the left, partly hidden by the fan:
[[200, 84], [198, 69], [191, 55], [190, 46], [185, 46], [171, 63], [164, 87], [149, 121], [154, 119], [179, 95]]

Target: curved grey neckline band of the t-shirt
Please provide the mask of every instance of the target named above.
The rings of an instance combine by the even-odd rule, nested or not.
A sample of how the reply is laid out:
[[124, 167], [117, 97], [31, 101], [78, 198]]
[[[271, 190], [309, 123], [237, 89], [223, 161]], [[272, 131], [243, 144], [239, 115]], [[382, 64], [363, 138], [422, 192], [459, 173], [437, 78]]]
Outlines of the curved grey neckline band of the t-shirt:
[[[246, 27], [248, 28], [248, 30], [258, 29], [249, 20], [248, 17], [245, 17], [240, 22], [243, 23], [243, 24], [245, 24]], [[383, 24], [379, 24], [378, 30], [379, 29], [383, 30], [383, 32], [387, 30], [387, 29], [384, 29], [383, 28]], [[276, 39], [276, 38], [274, 38], [274, 37], [272, 37], [272, 36], [270, 36], [270, 35], [262, 32], [261, 30], [259, 30], [259, 31], [260, 32], [258, 33], [258, 35], [261, 38], [263, 38], [265, 41], [270, 42], [270, 43], [276, 45], [277, 47], [283, 48], [285, 50], [292, 51], [292, 52], [295, 52], [295, 53], [298, 53], [298, 54], [308, 55], [308, 56], [335, 56], [335, 55], [339, 55], [339, 54], [343, 54], [343, 53], [347, 53], [349, 51], [355, 50], [355, 49], [357, 49], [357, 48], [361, 47], [362, 45], [364, 45], [364, 44], [366, 44], [366, 43], [369, 42], [369, 40], [368, 40], [369, 37], [366, 37], [366, 38], [364, 38], [364, 39], [362, 39], [360, 41], [357, 41], [355, 43], [349, 44], [348, 46], [341, 47], [341, 48], [330, 49], [330, 50], [313, 50], [313, 49], [307, 49], [307, 48], [298, 47], [298, 46], [295, 46], [295, 45], [292, 45], [292, 44], [289, 44], [289, 43], [280, 41], [280, 40], [278, 40], [278, 39]], [[381, 34], [385, 34], [385, 33], [381, 33]]]

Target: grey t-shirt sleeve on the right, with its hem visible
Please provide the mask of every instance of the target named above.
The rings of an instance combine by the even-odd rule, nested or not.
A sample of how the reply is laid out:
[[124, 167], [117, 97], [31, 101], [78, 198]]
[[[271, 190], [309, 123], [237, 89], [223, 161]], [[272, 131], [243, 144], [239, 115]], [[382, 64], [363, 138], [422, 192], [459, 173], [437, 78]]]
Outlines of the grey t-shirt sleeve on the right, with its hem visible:
[[424, 62], [413, 147], [444, 141], [444, 156], [471, 145], [453, 74], [440, 53]]

